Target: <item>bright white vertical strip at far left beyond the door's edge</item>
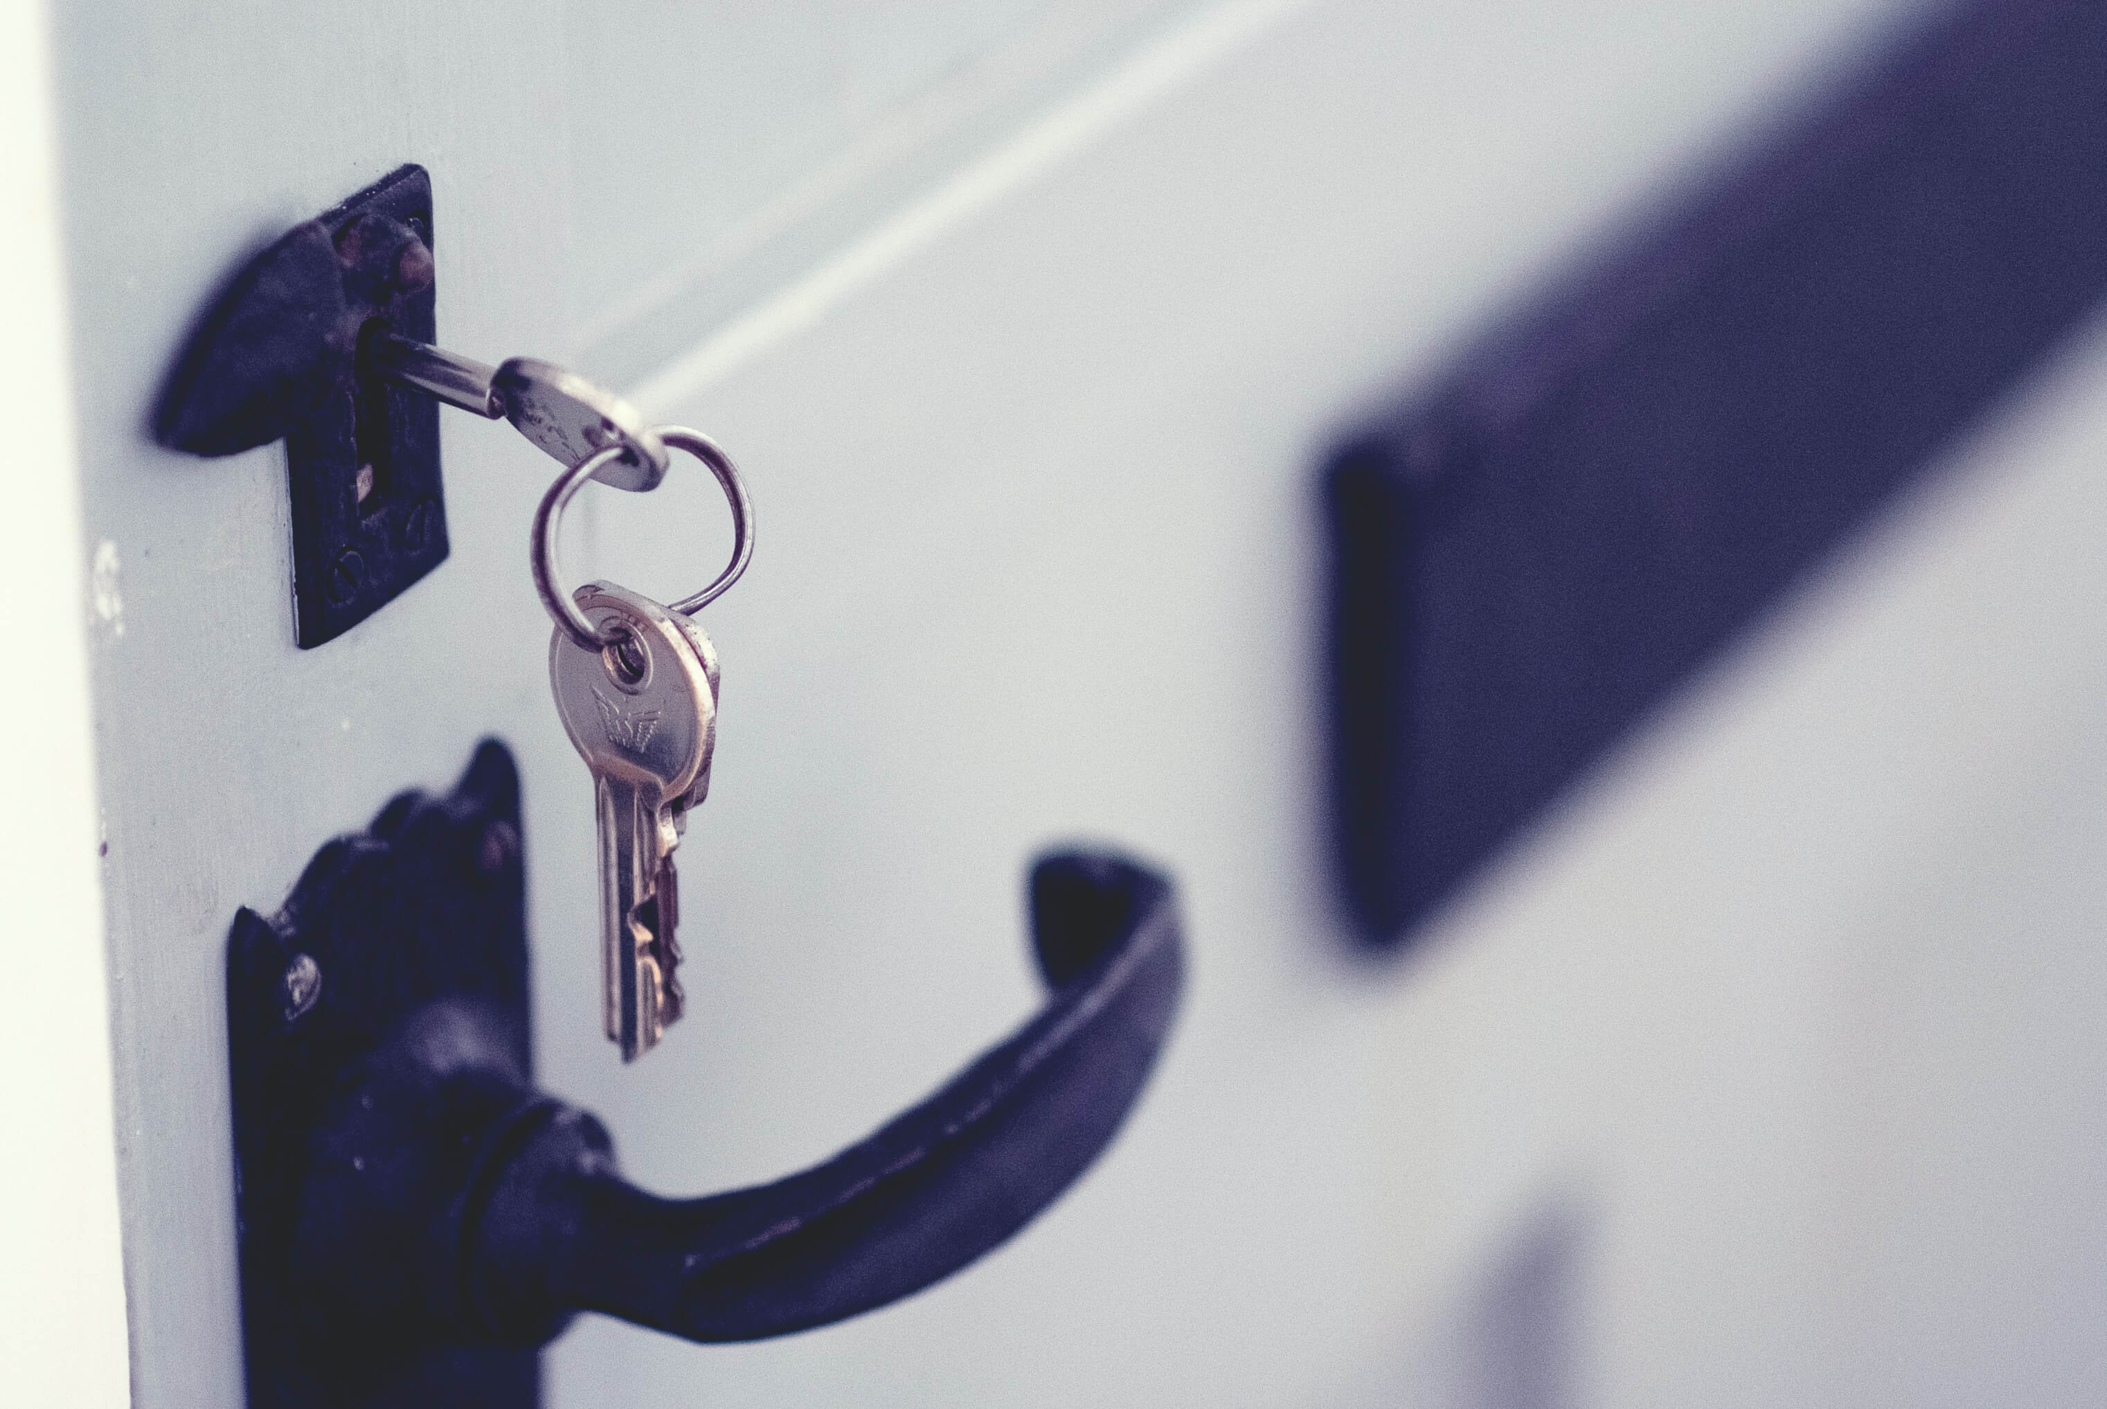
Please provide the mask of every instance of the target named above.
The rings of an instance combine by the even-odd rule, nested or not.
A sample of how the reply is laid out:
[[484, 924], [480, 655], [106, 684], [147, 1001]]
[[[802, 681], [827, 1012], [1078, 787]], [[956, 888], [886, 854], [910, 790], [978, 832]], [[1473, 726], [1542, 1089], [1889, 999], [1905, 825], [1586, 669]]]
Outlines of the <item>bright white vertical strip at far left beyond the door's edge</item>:
[[[0, 6], [0, 600], [23, 623], [0, 727], [0, 1398], [129, 1403], [110, 981], [95, 874], [88, 558], [42, 4]], [[107, 602], [112, 611], [114, 602]]]

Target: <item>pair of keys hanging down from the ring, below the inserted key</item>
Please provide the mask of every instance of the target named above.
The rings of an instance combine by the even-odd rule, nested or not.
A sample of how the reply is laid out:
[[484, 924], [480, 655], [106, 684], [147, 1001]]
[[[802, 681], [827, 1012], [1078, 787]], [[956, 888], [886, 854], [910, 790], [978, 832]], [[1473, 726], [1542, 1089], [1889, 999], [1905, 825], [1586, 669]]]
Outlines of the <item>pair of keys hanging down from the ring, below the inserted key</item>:
[[548, 670], [594, 777], [607, 1036], [634, 1061], [681, 1017], [672, 851], [708, 792], [716, 651], [693, 621], [624, 588], [588, 583], [575, 600], [603, 636], [622, 634], [590, 651], [558, 630]]

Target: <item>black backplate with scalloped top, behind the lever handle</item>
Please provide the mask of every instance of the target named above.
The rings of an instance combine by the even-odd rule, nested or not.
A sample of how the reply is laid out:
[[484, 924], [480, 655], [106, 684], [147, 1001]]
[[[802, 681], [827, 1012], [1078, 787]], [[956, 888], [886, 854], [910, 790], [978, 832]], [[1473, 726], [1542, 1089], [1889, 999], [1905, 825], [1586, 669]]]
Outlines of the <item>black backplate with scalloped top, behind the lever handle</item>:
[[[322, 847], [278, 916], [234, 920], [228, 1049], [251, 1409], [535, 1403], [531, 1342], [449, 1335], [424, 1306], [447, 1299], [432, 1266], [449, 1241], [432, 1226], [447, 1198], [434, 1190], [459, 1177], [478, 1123], [520, 1099], [533, 1070], [518, 817], [512, 760], [485, 743], [451, 796], [402, 794], [369, 832]], [[289, 992], [301, 984], [287, 979], [310, 971], [301, 954], [312, 994]], [[455, 1013], [472, 1040], [453, 1061], [405, 1057], [430, 1057], [415, 1043], [434, 1026], [445, 1040], [432, 1017]], [[407, 1222], [354, 1224], [346, 1179], [402, 1203]]]

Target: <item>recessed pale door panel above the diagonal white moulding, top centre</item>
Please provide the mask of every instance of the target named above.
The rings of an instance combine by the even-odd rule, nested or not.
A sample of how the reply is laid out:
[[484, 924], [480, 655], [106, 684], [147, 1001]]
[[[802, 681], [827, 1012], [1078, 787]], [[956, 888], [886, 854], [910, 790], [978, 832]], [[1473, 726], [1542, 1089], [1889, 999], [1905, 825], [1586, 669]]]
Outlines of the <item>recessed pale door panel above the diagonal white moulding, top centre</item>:
[[[556, 352], [615, 385], [651, 375], [697, 329], [855, 242], [1165, 23], [1209, 8], [567, 6], [560, 137], [575, 257]], [[632, 93], [651, 101], [617, 97]]]

